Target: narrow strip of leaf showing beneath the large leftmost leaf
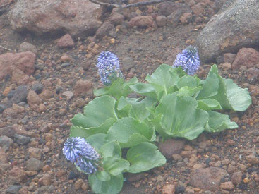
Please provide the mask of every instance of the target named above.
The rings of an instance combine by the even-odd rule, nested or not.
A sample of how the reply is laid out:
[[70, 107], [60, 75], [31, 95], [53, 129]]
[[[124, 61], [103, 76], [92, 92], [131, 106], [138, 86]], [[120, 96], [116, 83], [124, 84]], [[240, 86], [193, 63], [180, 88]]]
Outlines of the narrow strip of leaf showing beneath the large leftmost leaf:
[[70, 130], [71, 137], [88, 138], [96, 133], [107, 133], [108, 129], [115, 123], [115, 119], [109, 118], [98, 127], [83, 128], [80, 126], [72, 126]]

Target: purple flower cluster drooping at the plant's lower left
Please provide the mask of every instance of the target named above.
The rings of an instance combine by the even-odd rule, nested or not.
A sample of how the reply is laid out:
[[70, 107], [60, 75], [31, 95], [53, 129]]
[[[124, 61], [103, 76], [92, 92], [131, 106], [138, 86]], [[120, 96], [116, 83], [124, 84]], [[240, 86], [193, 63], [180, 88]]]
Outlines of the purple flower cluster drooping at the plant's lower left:
[[84, 138], [68, 138], [64, 143], [63, 154], [87, 174], [94, 174], [98, 169], [100, 155]]

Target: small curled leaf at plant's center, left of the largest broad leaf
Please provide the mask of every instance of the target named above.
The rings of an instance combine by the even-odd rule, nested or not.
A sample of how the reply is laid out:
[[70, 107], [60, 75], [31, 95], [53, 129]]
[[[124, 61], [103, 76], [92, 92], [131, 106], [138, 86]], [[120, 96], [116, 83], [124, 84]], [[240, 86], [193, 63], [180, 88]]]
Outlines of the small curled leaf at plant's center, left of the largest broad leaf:
[[[156, 103], [157, 100], [152, 97], [145, 97], [142, 100], [121, 97], [117, 109], [124, 109], [125, 111], [128, 111], [128, 116], [133, 117], [138, 121], [144, 121], [150, 116], [150, 111], [147, 111], [147, 108], [155, 107]], [[128, 107], [128, 104], [130, 104], [130, 107]]]

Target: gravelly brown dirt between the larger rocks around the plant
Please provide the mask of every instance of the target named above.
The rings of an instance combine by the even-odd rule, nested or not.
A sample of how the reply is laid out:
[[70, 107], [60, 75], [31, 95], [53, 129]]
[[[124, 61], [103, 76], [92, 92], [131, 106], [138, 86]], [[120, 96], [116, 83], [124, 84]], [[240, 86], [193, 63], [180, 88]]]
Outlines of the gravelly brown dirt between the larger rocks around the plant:
[[[145, 12], [148, 7], [140, 9]], [[138, 13], [140, 9], [131, 11]], [[12, 83], [11, 76], [0, 82], [0, 126], [11, 127], [17, 135], [21, 135], [15, 138], [7, 130], [0, 133], [11, 139], [6, 139], [10, 143], [8, 150], [0, 149], [1, 193], [8, 193], [11, 189], [20, 189], [20, 193], [91, 193], [87, 176], [78, 174], [74, 166], [66, 161], [62, 146], [69, 135], [69, 119], [94, 98], [92, 90], [102, 87], [95, 67], [97, 55], [101, 51], [112, 51], [119, 57], [126, 79], [135, 75], [138, 80], [144, 81], [147, 73], [155, 71], [161, 63], [167, 61], [171, 65], [175, 49], [181, 50], [189, 44], [195, 44], [200, 27], [207, 22], [205, 19], [203, 25], [198, 25], [197, 21], [191, 20], [190, 23], [176, 27], [167, 23], [161, 28], [121, 27], [117, 32], [114, 28], [114, 34], [104, 36], [101, 40], [92, 37], [74, 39], [74, 47], [61, 49], [55, 42], [57, 37], [37, 37], [29, 32], [19, 34], [11, 30], [6, 19], [6, 13], [3, 13], [0, 16], [1, 46], [16, 52], [20, 44], [30, 42], [37, 48], [35, 72], [27, 85], [28, 90], [34, 90], [34, 95], [38, 95], [41, 100], [40, 104], [32, 106], [26, 101], [18, 102], [18, 108], [13, 108], [9, 102], [17, 95], [12, 96], [10, 91], [16, 91], [18, 85]], [[1, 54], [7, 51], [0, 48]], [[198, 72], [200, 78], [207, 75], [210, 65], [202, 64]], [[241, 178], [235, 178], [241, 181], [234, 181], [234, 188], [226, 190], [222, 187], [216, 193], [258, 193], [258, 80], [248, 80], [246, 68], [232, 71], [219, 66], [219, 71], [224, 78], [232, 78], [239, 86], [248, 87], [253, 96], [253, 104], [247, 111], [228, 113], [239, 128], [217, 134], [205, 133], [197, 140], [187, 142], [179, 154], [167, 159], [164, 166], [147, 171], [140, 179], [133, 178], [133, 181], [129, 181], [126, 176], [121, 193], [162, 193], [164, 186], [168, 185], [175, 186], [175, 193], [205, 193], [205, 190], [190, 186], [189, 181], [193, 171], [207, 167], [227, 171], [227, 176], [219, 184], [231, 181], [235, 173], [241, 174]], [[88, 81], [91, 87], [85, 92], [76, 92], [75, 85], [80, 80]], [[73, 95], [75, 93], [79, 95]], [[11, 116], [4, 112], [7, 109]], [[25, 143], [23, 138], [28, 137], [30, 141]], [[30, 149], [32, 147], [38, 150]], [[29, 152], [29, 149], [32, 151]], [[35, 152], [41, 153], [37, 163], [42, 166], [36, 171], [30, 171], [26, 166], [28, 160], [37, 155]], [[251, 154], [254, 160], [248, 157]], [[16, 174], [18, 178], [9, 173], [15, 167], [20, 169]]]

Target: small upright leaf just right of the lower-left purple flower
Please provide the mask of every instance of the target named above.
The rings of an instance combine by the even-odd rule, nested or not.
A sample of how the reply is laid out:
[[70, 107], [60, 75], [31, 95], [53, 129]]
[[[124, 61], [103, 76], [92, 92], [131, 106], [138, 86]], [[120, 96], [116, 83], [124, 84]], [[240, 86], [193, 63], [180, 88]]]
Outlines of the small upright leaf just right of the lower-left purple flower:
[[114, 141], [110, 141], [100, 148], [100, 153], [102, 154], [102, 159], [107, 159], [108, 157], [114, 157], [117, 159], [121, 159], [121, 147], [119, 143]]

